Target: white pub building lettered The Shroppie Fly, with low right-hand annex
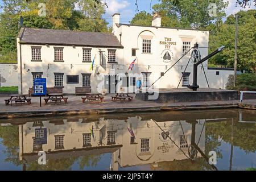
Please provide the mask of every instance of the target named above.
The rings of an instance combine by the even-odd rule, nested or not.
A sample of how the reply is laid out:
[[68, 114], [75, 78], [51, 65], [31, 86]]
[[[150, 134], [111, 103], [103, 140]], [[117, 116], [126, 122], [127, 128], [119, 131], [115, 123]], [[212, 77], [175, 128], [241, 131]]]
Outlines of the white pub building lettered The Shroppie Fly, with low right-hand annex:
[[[76, 93], [87, 87], [90, 92], [115, 93], [122, 88], [136, 91], [136, 83], [150, 86], [195, 43], [201, 57], [208, 55], [209, 32], [161, 27], [154, 15], [152, 26], [134, 26], [119, 22], [113, 15], [112, 34], [21, 28], [17, 38], [19, 93], [27, 94], [36, 77], [47, 79], [47, 87], [61, 87], [63, 93]], [[187, 53], [155, 84], [155, 88], [179, 88], [192, 84], [193, 63]], [[134, 68], [129, 69], [135, 60]], [[186, 65], [187, 69], [185, 70]], [[210, 88], [225, 89], [232, 69], [210, 69], [203, 63]], [[203, 67], [199, 66], [198, 83], [207, 88]]]

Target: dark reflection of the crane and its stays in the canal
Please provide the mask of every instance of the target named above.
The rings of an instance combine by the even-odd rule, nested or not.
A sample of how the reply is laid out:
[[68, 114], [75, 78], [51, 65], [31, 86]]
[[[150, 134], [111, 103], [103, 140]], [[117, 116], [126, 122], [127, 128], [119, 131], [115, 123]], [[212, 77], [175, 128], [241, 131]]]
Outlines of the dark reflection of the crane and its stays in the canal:
[[[152, 119], [152, 121], [155, 122], [155, 124], [159, 127], [160, 130], [163, 131], [163, 133], [165, 133], [165, 131], [158, 125], [158, 123]], [[205, 121], [206, 122], [206, 121]], [[204, 154], [204, 152], [201, 150], [201, 148], [198, 146], [199, 142], [200, 142], [200, 139], [201, 139], [201, 135], [203, 133], [203, 130], [204, 130], [204, 127], [205, 127], [205, 122], [204, 122], [204, 126], [201, 130], [201, 134], [200, 134], [200, 137], [199, 137], [199, 140], [198, 142], [196, 143], [196, 124], [198, 123], [197, 121], [189, 121], [188, 123], [191, 123], [192, 127], [191, 127], [191, 130], [192, 130], [192, 133], [191, 133], [191, 145], [189, 146], [188, 148], [188, 155], [185, 154], [185, 152], [174, 142], [174, 140], [171, 139], [170, 135], [166, 135], [174, 144], [177, 148], [179, 148], [179, 150], [181, 152], [183, 152], [183, 154], [188, 158], [190, 159], [192, 162], [197, 158], [197, 152], [199, 152], [201, 154], [201, 156], [203, 156], [203, 158], [205, 159], [205, 161], [208, 163], [209, 161], [209, 157], [207, 155]], [[187, 139], [185, 137], [185, 134], [184, 134], [184, 131], [183, 131], [183, 127], [181, 125], [181, 122], [180, 122], [180, 126], [181, 126], [181, 130], [183, 132], [183, 137], [185, 139], [185, 142], [187, 143], [187, 146], [188, 146], [188, 142], [187, 142]], [[209, 164], [210, 167], [212, 167], [212, 169], [214, 170], [218, 170], [216, 166], [214, 166], [213, 164]]]

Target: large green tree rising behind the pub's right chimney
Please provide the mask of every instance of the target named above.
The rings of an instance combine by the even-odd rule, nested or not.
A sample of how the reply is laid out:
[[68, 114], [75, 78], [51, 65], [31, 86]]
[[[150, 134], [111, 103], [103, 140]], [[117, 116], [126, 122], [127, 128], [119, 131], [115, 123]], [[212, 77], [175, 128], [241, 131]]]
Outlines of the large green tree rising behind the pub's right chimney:
[[214, 1], [216, 4], [216, 16], [209, 14], [209, 1], [205, 0], [183, 0], [173, 1], [161, 0], [159, 4], [154, 5], [153, 9], [164, 17], [168, 18], [166, 24], [176, 24], [176, 27], [181, 28], [205, 28], [213, 20], [220, 20], [225, 16], [225, 7], [228, 6], [224, 0]]

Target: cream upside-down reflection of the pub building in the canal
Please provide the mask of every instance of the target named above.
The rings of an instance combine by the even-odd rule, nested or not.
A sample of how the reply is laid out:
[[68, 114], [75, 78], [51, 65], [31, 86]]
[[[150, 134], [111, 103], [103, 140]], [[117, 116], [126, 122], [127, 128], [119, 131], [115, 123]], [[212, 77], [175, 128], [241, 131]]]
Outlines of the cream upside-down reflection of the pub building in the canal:
[[[202, 151], [204, 122], [204, 119], [197, 120], [195, 127], [195, 143]], [[118, 164], [126, 167], [187, 159], [181, 150], [188, 155], [191, 123], [165, 121], [157, 124], [161, 129], [152, 119], [142, 121], [140, 117], [126, 120], [101, 118], [95, 122], [86, 119], [27, 122], [19, 126], [20, 160], [37, 160], [40, 150], [47, 152], [47, 159], [112, 153], [113, 169], [118, 169]], [[42, 140], [38, 140], [40, 137]]]

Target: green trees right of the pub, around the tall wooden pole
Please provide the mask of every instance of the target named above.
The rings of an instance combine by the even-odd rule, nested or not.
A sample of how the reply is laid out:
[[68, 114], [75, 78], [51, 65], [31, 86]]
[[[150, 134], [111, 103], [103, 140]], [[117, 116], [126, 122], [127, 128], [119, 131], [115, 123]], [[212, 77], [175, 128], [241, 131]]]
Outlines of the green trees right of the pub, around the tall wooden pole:
[[[237, 68], [256, 73], [256, 10], [238, 13]], [[225, 49], [209, 60], [210, 64], [234, 66], [235, 18], [228, 16], [226, 22], [219, 22], [210, 30], [210, 51], [225, 46]]]

